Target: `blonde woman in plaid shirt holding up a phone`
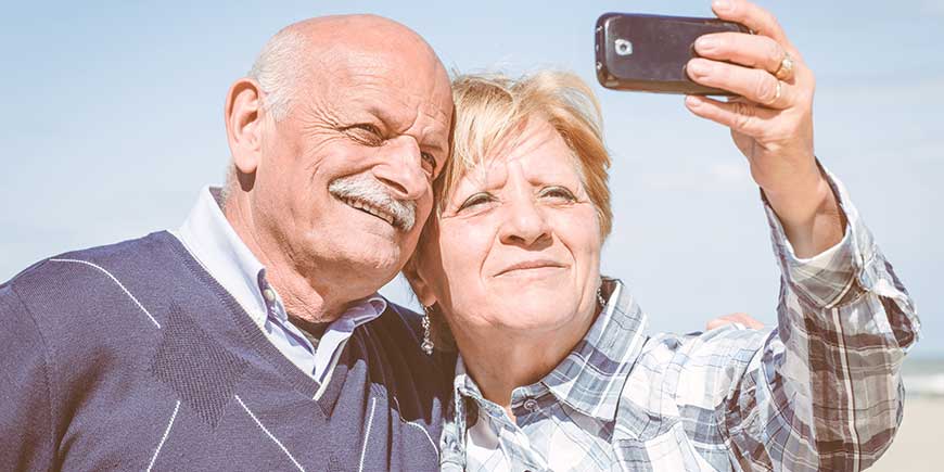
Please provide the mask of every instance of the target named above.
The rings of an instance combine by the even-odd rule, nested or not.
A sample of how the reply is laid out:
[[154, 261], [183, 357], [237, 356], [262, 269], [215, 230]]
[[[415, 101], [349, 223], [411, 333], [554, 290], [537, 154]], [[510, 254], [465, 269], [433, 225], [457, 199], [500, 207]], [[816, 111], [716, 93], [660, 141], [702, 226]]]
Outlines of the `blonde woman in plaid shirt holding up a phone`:
[[600, 276], [609, 157], [590, 90], [459, 77], [454, 160], [406, 269], [460, 352], [444, 470], [859, 470], [890, 444], [914, 305], [816, 163], [800, 54], [769, 14], [729, 5], [716, 13], [758, 34], [703, 37], [689, 73], [744, 99], [686, 103], [731, 128], [763, 190], [777, 329], [648, 333]]

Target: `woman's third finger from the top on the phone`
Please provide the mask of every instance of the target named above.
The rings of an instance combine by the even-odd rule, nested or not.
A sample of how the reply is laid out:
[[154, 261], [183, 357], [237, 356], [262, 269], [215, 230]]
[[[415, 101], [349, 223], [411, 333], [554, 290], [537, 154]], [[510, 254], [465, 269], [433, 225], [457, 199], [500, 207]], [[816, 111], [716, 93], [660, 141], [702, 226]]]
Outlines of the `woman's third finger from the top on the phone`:
[[794, 103], [792, 86], [766, 71], [696, 58], [688, 62], [686, 72], [703, 86], [735, 92], [764, 106], [782, 110]]

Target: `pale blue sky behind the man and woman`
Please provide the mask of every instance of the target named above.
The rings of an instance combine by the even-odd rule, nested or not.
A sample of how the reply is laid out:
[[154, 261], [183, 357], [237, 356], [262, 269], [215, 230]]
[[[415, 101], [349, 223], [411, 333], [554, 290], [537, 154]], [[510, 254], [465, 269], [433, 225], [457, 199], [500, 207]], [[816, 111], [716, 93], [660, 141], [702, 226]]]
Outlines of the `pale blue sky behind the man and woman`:
[[[42, 257], [176, 228], [229, 157], [222, 104], [267, 38], [331, 13], [412, 27], [461, 72], [577, 72], [603, 104], [614, 231], [604, 272], [659, 330], [748, 311], [773, 323], [778, 272], [745, 162], [680, 97], [596, 85], [608, 11], [709, 15], [709, 1], [16, 2], [0, 17], [0, 279]], [[511, 4], [513, 3], [513, 4]], [[816, 150], [918, 303], [915, 353], [944, 355], [944, 0], [761, 2], [817, 75]], [[383, 293], [411, 304], [405, 282]]]

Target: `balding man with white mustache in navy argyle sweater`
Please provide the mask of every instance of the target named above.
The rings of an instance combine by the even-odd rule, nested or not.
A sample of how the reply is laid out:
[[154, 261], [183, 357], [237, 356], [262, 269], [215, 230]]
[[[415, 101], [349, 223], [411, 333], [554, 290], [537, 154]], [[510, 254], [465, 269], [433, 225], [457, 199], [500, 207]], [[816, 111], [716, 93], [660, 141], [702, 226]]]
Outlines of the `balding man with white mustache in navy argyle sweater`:
[[222, 191], [178, 231], [0, 286], [0, 463], [435, 469], [443, 377], [375, 291], [430, 213], [451, 111], [445, 69], [399, 24], [276, 35], [227, 97]]

